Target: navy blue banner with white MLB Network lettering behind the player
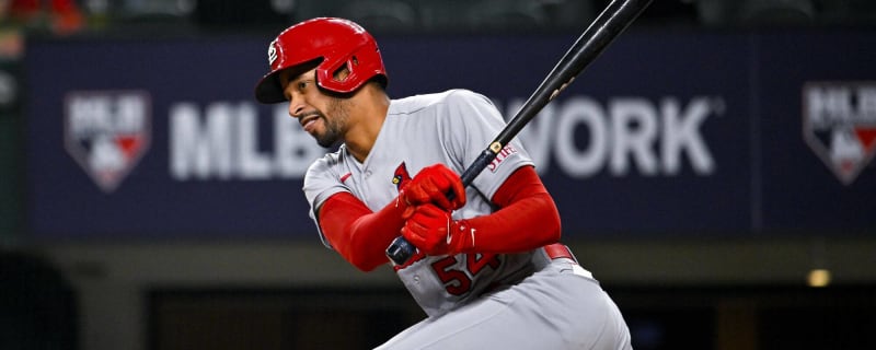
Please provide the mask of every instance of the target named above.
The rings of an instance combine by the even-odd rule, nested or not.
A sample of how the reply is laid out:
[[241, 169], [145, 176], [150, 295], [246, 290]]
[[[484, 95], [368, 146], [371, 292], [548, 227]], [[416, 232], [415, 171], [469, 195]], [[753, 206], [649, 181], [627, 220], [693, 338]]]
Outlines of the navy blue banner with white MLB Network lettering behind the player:
[[[573, 37], [378, 39], [391, 96], [464, 88], [511, 116]], [[873, 47], [631, 32], [519, 138], [570, 238], [873, 232]], [[264, 38], [28, 43], [31, 231], [314, 237], [302, 176], [326, 150], [255, 103], [266, 62]]]

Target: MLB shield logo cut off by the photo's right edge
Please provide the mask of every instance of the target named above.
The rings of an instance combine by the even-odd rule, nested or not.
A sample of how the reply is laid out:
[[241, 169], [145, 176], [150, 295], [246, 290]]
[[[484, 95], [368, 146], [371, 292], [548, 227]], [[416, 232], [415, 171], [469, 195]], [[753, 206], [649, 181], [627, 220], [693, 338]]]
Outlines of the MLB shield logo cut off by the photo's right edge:
[[876, 154], [876, 82], [809, 82], [803, 88], [803, 136], [844, 185]]

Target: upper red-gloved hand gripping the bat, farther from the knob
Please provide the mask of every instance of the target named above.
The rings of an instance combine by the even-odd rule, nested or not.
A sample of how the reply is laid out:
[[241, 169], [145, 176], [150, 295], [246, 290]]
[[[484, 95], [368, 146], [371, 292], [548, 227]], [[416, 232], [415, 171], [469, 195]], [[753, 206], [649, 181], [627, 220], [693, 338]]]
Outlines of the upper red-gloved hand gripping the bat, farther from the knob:
[[[453, 199], [448, 199], [452, 195]], [[411, 179], [399, 192], [408, 207], [434, 203], [445, 210], [465, 205], [465, 187], [459, 175], [441, 163], [429, 165]]]

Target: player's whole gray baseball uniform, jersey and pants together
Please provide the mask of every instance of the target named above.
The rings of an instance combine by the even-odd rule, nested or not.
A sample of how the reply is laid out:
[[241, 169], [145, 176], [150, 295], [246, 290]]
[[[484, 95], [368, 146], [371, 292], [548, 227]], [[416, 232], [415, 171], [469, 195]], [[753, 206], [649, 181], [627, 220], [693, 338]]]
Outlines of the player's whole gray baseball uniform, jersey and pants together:
[[[310, 215], [315, 221], [313, 209], [341, 191], [380, 210], [406, 179], [435, 163], [462, 173], [504, 126], [488, 98], [465, 90], [393, 100], [365, 162], [342, 145], [308, 170], [303, 189]], [[515, 170], [531, 164], [516, 141], [506, 145], [466, 188], [466, 203], [453, 212], [454, 219], [491, 213], [489, 198], [498, 187]], [[620, 311], [572, 259], [533, 249], [418, 254], [411, 260], [394, 268], [429, 317], [380, 349], [630, 349]]]

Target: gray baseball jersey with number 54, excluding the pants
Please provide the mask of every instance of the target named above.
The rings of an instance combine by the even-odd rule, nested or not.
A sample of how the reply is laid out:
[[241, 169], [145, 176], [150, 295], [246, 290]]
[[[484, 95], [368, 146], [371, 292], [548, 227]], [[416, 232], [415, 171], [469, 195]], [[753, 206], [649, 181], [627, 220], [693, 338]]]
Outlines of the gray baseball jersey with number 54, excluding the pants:
[[[380, 210], [395, 199], [405, 178], [435, 163], [461, 174], [504, 125], [487, 97], [465, 90], [394, 100], [365, 162], [357, 162], [342, 145], [311, 165], [304, 177], [310, 215], [315, 220], [313, 208], [339, 191], [351, 192], [371, 210]], [[505, 178], [517, 167], [531, 164], [523, 149], [511, 142], [466, 188], [466, 203], [453, 212], [454, 219], [489, 213], [489, 198]], [[328, 245], [324, 237], [323, 243]], [[514, 283], [532, 273], [531, 253], [412, 260], [396, 267], [396, 272], [429, 316], [452, 310], [491, 285]]]

